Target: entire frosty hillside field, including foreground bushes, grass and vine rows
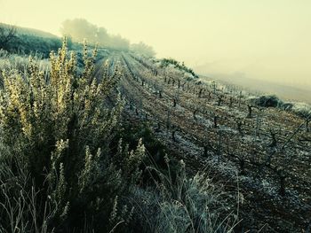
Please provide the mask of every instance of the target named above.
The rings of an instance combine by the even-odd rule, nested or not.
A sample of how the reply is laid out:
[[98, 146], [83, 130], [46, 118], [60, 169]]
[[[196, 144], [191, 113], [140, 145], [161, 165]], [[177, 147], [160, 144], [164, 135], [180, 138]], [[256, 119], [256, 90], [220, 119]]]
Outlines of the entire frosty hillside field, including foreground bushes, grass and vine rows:
[[309, 232], [309, 105], [75, 48], [0, 51], [0, 232]]

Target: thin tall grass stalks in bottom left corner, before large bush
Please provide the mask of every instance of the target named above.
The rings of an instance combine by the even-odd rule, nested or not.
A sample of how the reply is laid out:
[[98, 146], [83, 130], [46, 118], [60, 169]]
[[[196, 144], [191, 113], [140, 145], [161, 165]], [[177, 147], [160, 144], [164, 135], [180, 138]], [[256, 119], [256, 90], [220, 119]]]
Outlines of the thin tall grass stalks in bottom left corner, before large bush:
[[48, 222], [56, 208], [40, 198], [40, 190], [20, 162], [1, 159], [0, 187], [1, 233], [53, 232], [53, 229], [48, 231]]

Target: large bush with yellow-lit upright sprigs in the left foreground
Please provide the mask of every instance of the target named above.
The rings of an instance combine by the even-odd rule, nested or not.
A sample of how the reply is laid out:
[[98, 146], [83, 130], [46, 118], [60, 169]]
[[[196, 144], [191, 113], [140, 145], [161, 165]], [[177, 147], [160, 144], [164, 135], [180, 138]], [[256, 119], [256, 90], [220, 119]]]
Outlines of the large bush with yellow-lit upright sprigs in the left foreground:
[[[26, 73], [4, 72], [0, 162], [8, 164], [9, 176], [0, 178], [4, 187], [11, 187], [10, 180], [20, 177], [20, 171], [28, 179], [0, 195], [0, 204], [9, 210], [0, 212], [2, 231], [11, 232], [12, 226], [23, 232], [108, 231], [124, 216], [130, 218], [132, 208], [118, 207], [140, 176], [144, 146], [111, 153], [124, 105], [113, 92], [121, 74], [105, 72], [99, 82], [93, 74], [96, 53], [89, 57], [84, 46], [81, 75], [76, 74], [76, 56], [68, 56], [66, 42], [58, 54], [51, 53], [48, 75], [32, 59]], [[33, 202], [24, 202], [34, 206], [36, 215], [22, 209], [25, 217], [18, 221], [20, 215], [12, 215], [19, 212], [7, 206], [6, 197], [19, 200], [20, 193], [36, 194]]]

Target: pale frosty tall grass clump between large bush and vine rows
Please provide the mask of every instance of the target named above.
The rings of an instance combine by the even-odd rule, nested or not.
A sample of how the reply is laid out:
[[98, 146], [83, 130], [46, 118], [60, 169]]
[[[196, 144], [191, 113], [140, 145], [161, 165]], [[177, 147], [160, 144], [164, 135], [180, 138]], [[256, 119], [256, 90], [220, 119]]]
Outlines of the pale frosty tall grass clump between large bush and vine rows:
[[183, 161], [175, 178], [170, 169], [168, 173], [148, 169], [155, 172], [156, 187], [136, 189], [132, 198], [139, 218], [146, 222], [146, 232], [233, 232], [238, 223], [238, 200], [206, 173], [187, 177]]

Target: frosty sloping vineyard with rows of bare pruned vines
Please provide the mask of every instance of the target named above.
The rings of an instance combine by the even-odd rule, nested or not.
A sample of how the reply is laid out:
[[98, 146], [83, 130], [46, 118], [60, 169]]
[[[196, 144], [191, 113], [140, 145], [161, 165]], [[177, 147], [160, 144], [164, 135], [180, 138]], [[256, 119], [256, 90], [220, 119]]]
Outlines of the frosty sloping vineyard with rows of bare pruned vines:
[[148, 122], [187, 172], [238, 187], [243, 232], [309, 232], [310, 116], [253, 105], [249, 93], [129, 53], [112, 54], [129, 118]]

